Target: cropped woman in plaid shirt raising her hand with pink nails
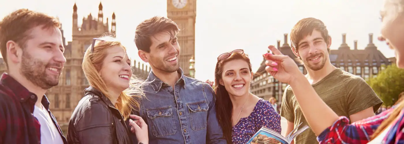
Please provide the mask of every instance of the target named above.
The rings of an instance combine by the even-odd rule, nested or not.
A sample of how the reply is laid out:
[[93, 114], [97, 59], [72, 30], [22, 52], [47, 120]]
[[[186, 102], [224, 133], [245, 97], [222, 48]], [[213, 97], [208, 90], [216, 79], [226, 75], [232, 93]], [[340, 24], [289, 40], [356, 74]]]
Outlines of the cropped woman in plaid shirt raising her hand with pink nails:
[[[381, 20], [382, 36], [379, 40], [386, 41], [396, 51], [396, 64], [404, 68], [404, 0], [385, 0]], [[264, 54], [267, 59], [265, 70], [279, 81], [290, 84], [320, 144], [404, 143], [404, 101], [379, 115], [349, 124], [347, 117], [338, 117], [322, 101], [295, 61], [274, 46], [268, 48], [273, 54]], [[272, 65], [272, 62], [277, 65]]]

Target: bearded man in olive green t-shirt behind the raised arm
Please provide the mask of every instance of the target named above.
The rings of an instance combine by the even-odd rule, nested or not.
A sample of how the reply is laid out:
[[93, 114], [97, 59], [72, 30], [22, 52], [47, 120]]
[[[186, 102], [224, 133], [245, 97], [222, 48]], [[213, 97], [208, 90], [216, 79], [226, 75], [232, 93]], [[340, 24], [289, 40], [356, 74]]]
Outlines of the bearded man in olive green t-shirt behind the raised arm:
[[[307, 69], [307, 80], [337, 115], [345, 116], [351, 122], [375, 115], [383, 101], [364, 79], [331, 64], [331, 37], [322, 21], [314, 18], [300, 20], [290, 33], [290, 41], [297, 60]], [[308, 125], [290, 86], [286, 87], [282, 97], [280, 115], [288, 121], [286, 135], [300, 123], [298, 129]], [[295, 138], [295, 144], [318, 144], [318, 141], [314, 132], [306, 129]]]

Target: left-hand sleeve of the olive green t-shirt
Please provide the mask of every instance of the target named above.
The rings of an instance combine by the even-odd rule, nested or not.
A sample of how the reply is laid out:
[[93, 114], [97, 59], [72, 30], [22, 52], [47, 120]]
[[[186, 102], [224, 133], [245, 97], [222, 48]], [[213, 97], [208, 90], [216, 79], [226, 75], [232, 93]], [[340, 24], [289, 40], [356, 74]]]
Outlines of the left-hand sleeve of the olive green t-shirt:
[[290, 86], [285, 88], [285, 92], [282, 96], [282, 105], [280, 106], [280, 116], [286, 118], [289, 122], [295, 121], [295, 113], [293, 105], [290, 102], [290, 96], [292, 95], [292, 89]]

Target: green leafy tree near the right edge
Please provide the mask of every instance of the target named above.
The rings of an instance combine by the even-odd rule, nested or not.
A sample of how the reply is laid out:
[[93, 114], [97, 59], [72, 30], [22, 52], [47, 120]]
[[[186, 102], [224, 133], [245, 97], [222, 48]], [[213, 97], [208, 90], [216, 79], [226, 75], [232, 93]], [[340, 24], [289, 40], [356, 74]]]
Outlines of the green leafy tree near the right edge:
[[404, 92], [404, 69], [394, 64], [382, 67], [385, 69], [381, 70], [377, 77], [366, 82], [383, 100], [383, 105], [391, 106], [398, 100], [398, 95]]

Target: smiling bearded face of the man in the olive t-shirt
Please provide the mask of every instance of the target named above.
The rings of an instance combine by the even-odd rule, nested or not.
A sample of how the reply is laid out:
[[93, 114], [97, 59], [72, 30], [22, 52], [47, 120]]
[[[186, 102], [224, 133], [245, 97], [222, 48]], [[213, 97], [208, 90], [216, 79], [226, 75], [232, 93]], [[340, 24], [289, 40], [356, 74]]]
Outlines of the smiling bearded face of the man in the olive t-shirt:
[[309, 34], [299, 41], [297, 50], [294, 48], [293, 52], [301, 58], [306, 68], [318, 71], [324, 67], [326, 62], [330, 63], [328, 59], [330, 45], [331, 38], [327, 44], [321, 32], [314, 29], [311, 35]]

